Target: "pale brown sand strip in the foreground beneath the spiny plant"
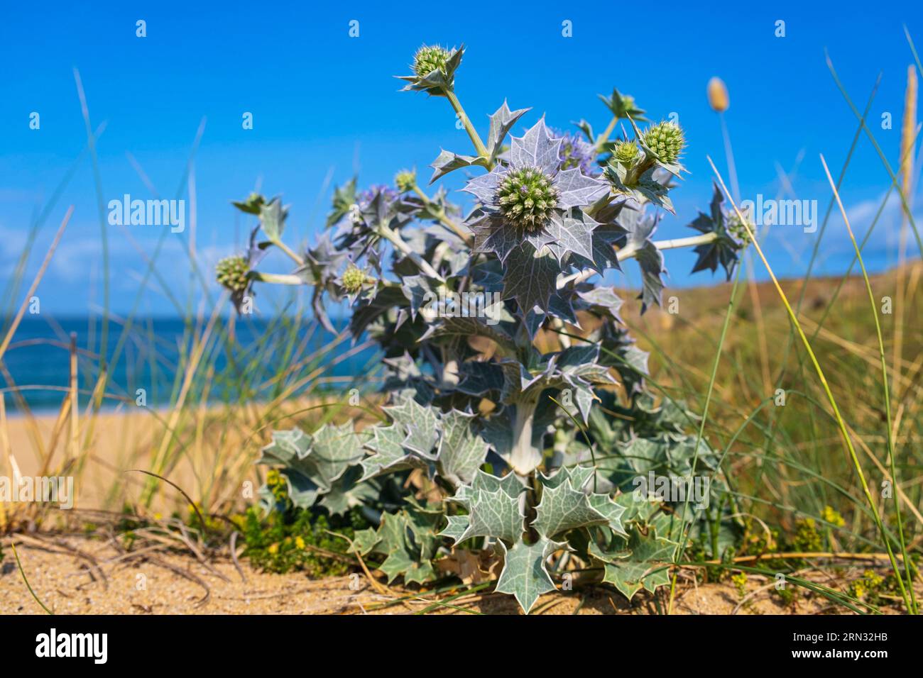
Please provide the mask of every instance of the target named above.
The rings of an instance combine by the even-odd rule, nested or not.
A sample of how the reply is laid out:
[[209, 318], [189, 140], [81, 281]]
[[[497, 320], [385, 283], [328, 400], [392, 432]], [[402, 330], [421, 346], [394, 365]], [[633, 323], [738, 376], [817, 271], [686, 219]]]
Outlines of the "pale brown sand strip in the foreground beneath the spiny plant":
[[[217, 557], [208, 565], [191, 553], [163, 548], [126, 556], [114, 542], [78, 536], [16, 535], [5, 538], [6, 558], [0, 565], [0, 613], [43, 614], [19, 573], [10, 548], [17, 541], [19, 558], [36, 596], [55, 614], [409, 614], [420, 612], [439, 598], [421, 589], [394, 586], [379, 589], [358, 568], [346, 577], [310, 579], [304, 574], [265, 574], [254, 571], [246, 560], [241, 570], [230, 558]], [[823, 577], [819, 574], [819, 577]], [[378, 580], [378, 587], [384, 581]], [[752, 601], [737, 610], [741, 614], [842, 613], [819, 598], [802, 599], [787, 608], [753, 580], [748, 591]], [[461, 590], [461, 589], [460, 589]], [[401, 598], [408, 600], [394, 603]], [[663, 599], [662, 599], [663, 600]], [[679, 588], [676, 613], [729, 614], [740, 602], [730, 584]], [[504, 594], [475, 593], [450, 601], [471, 612], [521, 613]], [[658, 606], [646, 593], [629, 604], [612, 589], [588, 587], [545, 594], [535, 610], [550, 614], [656, 614]], [[447, 606], [434, 613], [465, 614]]]

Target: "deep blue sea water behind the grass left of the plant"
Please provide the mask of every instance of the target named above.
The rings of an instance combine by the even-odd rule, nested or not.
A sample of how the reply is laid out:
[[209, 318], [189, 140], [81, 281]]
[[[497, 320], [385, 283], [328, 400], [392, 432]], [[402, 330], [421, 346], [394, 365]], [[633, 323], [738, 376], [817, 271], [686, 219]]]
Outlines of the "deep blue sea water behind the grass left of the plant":
[[[227, 322], [219, 321], [199, 363], [188, 401], [198, 402], [205, 387], [211, 402], [270, 398], [282, 387], [270, 383], [271, 378], [285, 366], [306, 361], [312, 353], [317, 353], [316, 358], [294, 369], [286, 384], [318, 369], [320, 376], [338, 379], [319, 388], [362, 387], [350, 378], [362, 380], [374, 372], [378, 365], [374, 348], [361, 349], [361, 341], [354, 345], [351, 339], [331, 348], [335, 334], [307, 320], [293, 327], [298, 322], [294, 318], [237, 319], [232, 339]], [[138, 389], [143, 389], [148, 407], [168, 405], [185, 374], [189, 333], [195, 326], [187, 327], [178, 317], [147, 317], [135, 318], [132, 327], [127, 332], [124, 329], [124, 325], [110, 321], [106, 350], [110, 377], [103, 409], [126, 401], [136, 404]], [[77, 337], [79, 402], [81, 406], [89, 402], [100, 374], [100, 318], [27, 315], [3, 357], [6, 374], [0, 373], [0, 387], [11, 416], [21, 412], [22, 401], [32, 411], [60, 408], [70, 378], [68, 346], [72, 332]], [[299, 387], [295, 393], [308, 387]]]

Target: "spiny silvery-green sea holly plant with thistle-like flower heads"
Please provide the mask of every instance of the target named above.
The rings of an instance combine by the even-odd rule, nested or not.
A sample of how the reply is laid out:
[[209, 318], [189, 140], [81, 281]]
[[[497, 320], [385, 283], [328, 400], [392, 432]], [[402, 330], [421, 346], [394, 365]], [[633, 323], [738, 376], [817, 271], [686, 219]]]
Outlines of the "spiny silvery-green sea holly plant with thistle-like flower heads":
[[[472, 142], [440, 150], [435, 191], [413, 170], [393, 186], [360, 190], [354, 179], [300, 252], [282, 244], [278, 197], [235, 203], [259, 219], [249, 254], [219, 264], [235, 303], [258, 282], [306, 285], [333, 332], [331, 304], [345, 304], [340, 329], [378, 343], [386, 398], [381, 422], [275, 432], [259, 463], [280, 471], [306, 510], [368, 510], [377, 527], [357, 532], [352, 548], [389, 580], [424, 583], [451, 562], [476, 562], [526, 612], [565, 582], [602, 580], [630, 599], [669, 580], [686, 537], [716, 535], [721, 557], [734, 526], [724, 500], [690, 503], [639, 484], [696, 477], [723, 487], [717, 455], [687, 433], [695, 414], [648, 388], [647, 354], [608, 279], [634, 259], [643, 313], [660, 303], [665, 250], [694, 247], [695, 270], [730, 275], [744, 230], [716, 190], [690, 224], [697, 234], [654, 239], [673, 211], [686, 135], [648, 123], [615, 89], [598, 137], [583, 122], [557, 132], [503, 101], [484, 140], [455, 93], [463, 54], [424, 46], [401, 77], [405, 90], [449, 101]], [[463, 173], [451, 194], [462, 204], [443, 184], [452, 172]], [[270, 247], [292, 270], [256, 270]]]

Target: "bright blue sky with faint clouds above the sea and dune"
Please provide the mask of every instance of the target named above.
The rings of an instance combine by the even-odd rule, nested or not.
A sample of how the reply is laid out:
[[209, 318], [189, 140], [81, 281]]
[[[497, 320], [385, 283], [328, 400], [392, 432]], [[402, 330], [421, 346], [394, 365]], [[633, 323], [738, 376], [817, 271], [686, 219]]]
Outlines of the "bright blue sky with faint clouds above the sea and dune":
[[[230, 200], [255, 186], [282, 193], [292, 206], [293, 238], [311, 238], [323, 221], [330, 184], [359, 172], [361, 184], [388, 183], [404, 166], [426, 175], [440, 148], [470, 152], [442, 99], [400, 93], [392, 76], [407, 71], [423, 42], [467, 46], [456, 89], [482, 130], [486, 115], [506, 98], [513, 108], [533, 107], [514, 133], [542, 113], [550, 125], [568, 128], [581, 118], [599, 130], [608, 122], [597, 93], [615, 86], [632, 94], [654, 118], [678, 113], [687, 131], [691, 174], [672, 194], [677, 217], [667, 216], [658, 237], [689, 234], [685, 224], [711, 196], [711, 155], [725, 172], [718, 118], [707, 105], [705, 85], [725, 79], [731, 107], [726, 121], [743, 197], [776, 196], [776, 166], [791, 171], [797, 197], [830, 199], [818, 154], [839, 172], [856, 119], [824, 63], [826, 47], [845, 87], [861, 109], [879, 71], [881, 88], [869, 125], [896, 167], [906, 68], [912, 55], [906, 23], [923, 45], [923, 13], [909, 4], [773, 3], [728, 6], [414, 3], [125, 3], [85, 6], [18, 3], [0, 25], [0, 279], [8, 280], [36, 215], [86, 147], [73, 68], [87, 93], [92, 125], [105, 122], [98, 143], [104, 201], [123, 194], [152, 197], [127, 154], [164, 197], [180, 190], [193, 139], [206, 119], [195, 156], [196, 244], [204, 265], [242, 243], [249, 222]], [[609, 6], [606, 6], [609, 7]], [[136, 21], [147, 37], [136, 37]], [[348, 35], [359, 21], [359, 37]], [[785, 21], [785, 37], [774, 35]], [[562, 36], [562, 21], [572, 37]], [[30, 113], [41, 128], [30, 129]], [[253, 113], [254, 128], [242, 128]], [[893, 129], [881, 129], [881, 114]], [[482, 132], [483, 134], [483, 132]], [[451, 189], [461, 177], [451, 179]], [[869, 214], [889, 185], [877, 154], [863, 137], [844, 184], [854, 228], [868, 228]], [[919, 202], [919, 201], [917, 201]], [[42, 223], [29, 274], [68, 205], [74, 217], [42, 281], [42, 308], [82, 313], [102, 302], [100, 220], [89, 156], [77, 165], [63, 194]], [[923, 219], [921, 219], [923, 221]], [[869, 244], [870, 268], [896, 258], [897, 206]], [[845, 268], [850, 245], [841, 220], [832, 220], [821, 248], [821, 272]], [[134, 303], [138, 277], [162, 227], [107, 226], [112, 305], [125, 313]], [[881, 229], [879, 231], [878, 229]], [[168, 234], [159, 259], [164, 280], [186, 299], [189, 235]], [[804, 272], [817, 234], [777, 230], [767, 251], [780, 273]], [[290, 238], [291, 240], [291, 238]], [[911, 247], [911, 252], [916, 250]], [[694, 257], [670, 253], [670, 285], [705, 284], [689, 277]], [[282, 258], [267, 268], [285, 270]], [[762, 274], [761, 267], [757, 267]], [[629, 268], [630, 270], [630, 268]], [[633, 272], [633, 271], [632, 271]], [[630, 282], [636, 282], [631, 280]], [[169, 313], [173, 306], [157, 285], [140, 310]]]

